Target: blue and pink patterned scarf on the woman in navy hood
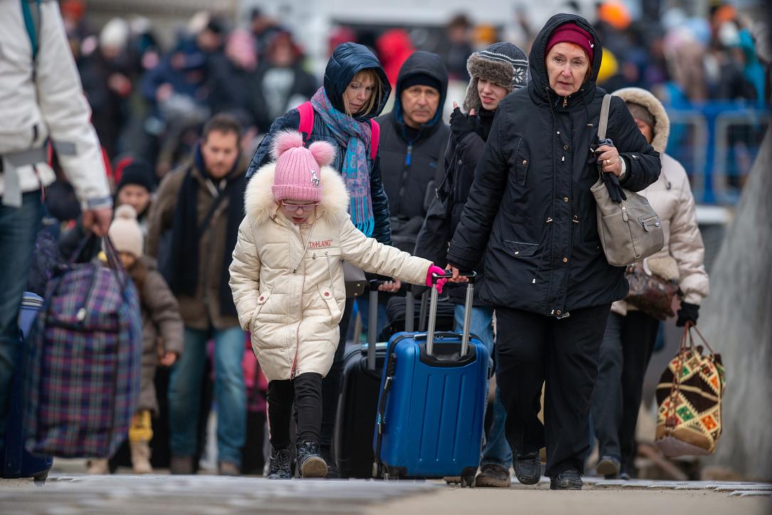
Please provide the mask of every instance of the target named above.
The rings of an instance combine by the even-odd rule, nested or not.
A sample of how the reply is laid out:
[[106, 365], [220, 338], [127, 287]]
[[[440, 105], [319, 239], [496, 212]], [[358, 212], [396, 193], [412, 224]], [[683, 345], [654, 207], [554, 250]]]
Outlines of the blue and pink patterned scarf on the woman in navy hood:
[[313, 110], [322, 117], [335, 140], [346, 149], [340, 174], [350, 195], [348, 211], [354, 226], [370, 237], [375, 228], [373, 201], [370, 195], [370, 122], [361, 122], [335, 109], [324, 88], [311, 98]]

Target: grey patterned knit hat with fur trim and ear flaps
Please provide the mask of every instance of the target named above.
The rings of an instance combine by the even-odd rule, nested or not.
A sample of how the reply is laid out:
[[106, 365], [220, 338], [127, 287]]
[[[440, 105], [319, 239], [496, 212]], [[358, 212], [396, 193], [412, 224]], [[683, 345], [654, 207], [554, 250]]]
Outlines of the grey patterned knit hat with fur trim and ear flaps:
[[479, 111], [482, 107], [477, 93], [477, 80], [483, 77], [506, 88], [508, 93], [528, 84], [528, 58], [523, 50], [510, 42], [497, 42], [466, 59], [466, 71], [471, 80], [466, 88], [463, 110]]

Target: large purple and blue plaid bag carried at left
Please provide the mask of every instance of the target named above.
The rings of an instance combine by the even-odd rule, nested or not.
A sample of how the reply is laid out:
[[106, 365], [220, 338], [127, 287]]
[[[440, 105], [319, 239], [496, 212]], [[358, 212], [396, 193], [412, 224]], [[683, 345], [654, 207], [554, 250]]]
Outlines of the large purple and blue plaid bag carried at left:
[[103, 246], [109, 266], [71, 259], [56, 270], [33, 324], [25, 381], [30, 452], [106, 458], [126, 439], [139, 397], [140, 308], [110, 239]]

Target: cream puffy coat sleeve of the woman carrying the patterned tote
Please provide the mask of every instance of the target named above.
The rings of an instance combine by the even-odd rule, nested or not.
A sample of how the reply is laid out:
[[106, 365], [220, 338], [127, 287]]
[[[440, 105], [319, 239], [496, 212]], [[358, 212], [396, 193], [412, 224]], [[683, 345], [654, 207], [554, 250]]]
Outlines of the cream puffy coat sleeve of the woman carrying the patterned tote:
[[670, 255], [678, 263], [684, 302], [699, 306], [709, 293], [708, 273], [703, 264], [703, 236], [697, 227], [694, 196], [686, 174], [683, 174], [681, 184], [675, 187], [679, 188], [681, 198], [670, 222]]

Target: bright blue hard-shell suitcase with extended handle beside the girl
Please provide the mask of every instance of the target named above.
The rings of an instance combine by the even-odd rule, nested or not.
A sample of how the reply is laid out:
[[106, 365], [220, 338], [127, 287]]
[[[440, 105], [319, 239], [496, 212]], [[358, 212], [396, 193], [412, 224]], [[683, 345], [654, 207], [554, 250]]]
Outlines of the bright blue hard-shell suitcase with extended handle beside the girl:
[[469, 334], [473, 274], [463, 334], [435, 333], [437, 290], [426, 333], [388, 344], [373, 439], [374, 475], [384, 479], [461, 476], [472, 486], [482, 451], [489, 356]]

